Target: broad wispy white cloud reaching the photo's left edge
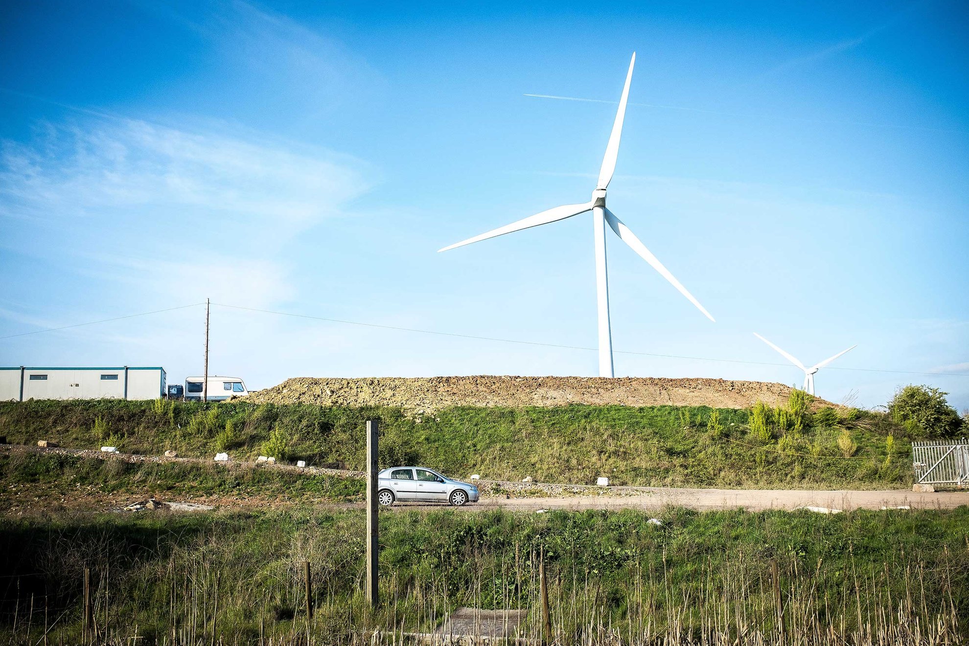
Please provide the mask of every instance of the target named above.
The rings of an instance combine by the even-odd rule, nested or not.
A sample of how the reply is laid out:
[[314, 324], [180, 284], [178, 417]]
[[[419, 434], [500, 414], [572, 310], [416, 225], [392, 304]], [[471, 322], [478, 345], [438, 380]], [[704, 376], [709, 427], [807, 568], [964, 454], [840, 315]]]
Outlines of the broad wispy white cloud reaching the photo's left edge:
[[[52, 128], [0, 153], [0, 215], [50, 218], [125, 209], [232, 214], [307, 223], [339, 212], [369, 184], [349, 158], [270, 142], [191, 133], [138, 120]], [[144, 210], [141, 210], [141, 209]], [[180, 210], [179, 212], [184, 212]]]

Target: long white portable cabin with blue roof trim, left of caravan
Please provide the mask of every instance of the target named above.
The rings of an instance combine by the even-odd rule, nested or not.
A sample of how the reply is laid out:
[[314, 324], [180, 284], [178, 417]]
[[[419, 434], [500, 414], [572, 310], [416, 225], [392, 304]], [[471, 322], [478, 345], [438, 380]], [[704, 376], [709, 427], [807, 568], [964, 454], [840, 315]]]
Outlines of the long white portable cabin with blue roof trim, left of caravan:
[[0, 401], [28, 399], [158, 399], [162, 367], [0, 368]]

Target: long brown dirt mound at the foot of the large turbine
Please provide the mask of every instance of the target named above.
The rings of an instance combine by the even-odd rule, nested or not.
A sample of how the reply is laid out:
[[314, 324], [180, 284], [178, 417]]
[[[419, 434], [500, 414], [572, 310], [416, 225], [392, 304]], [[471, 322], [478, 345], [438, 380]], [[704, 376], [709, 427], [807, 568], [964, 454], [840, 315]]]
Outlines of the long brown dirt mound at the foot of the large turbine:
[[391, 406], [429, 413], [452, 406], [711, 406], [746, 408], [758, 400], [786, 403], [791, 387], [721, 379], [603, 377], [297, 377], [249, 395], [268, 404]]

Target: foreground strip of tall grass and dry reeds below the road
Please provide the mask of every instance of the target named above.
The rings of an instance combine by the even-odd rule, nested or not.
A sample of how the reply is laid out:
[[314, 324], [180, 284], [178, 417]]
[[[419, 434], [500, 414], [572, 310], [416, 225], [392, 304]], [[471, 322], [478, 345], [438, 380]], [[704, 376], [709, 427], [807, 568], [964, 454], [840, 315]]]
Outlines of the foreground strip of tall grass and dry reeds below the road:
[[[456, 606], [523, 608], [570, 644], [942, 644], [969, 637], [969, 508], [951, 511], [382, 514], [384, 604], [368, 612], [360, 511], [0, 521], [12, 644], [81, 643], [83, 569], [98, 643], [390, 643]], [[302, 562], [315, 617], [302, 608]], [[30, 606], [33, 613], [30, 614]], [[261, 635], [266, 641], [261, 642]], [[759, 636], [765, 641], [759, 640]], [[944, 641], [947, 639], [947, 641]], [[399, 643], [399, 642], [398, 642]], [[693, 641], [690, 643], [699, 643]]]

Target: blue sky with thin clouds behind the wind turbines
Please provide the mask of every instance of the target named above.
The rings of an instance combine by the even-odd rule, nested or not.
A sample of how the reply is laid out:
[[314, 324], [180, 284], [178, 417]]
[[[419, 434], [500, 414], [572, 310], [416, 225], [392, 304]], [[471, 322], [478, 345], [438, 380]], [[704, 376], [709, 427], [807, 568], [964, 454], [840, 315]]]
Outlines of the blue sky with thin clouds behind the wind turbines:
[[[620, 376], [937, 385], [969, 407], [969, 12], [959, 2], [7, 2], [0, 336], [213, 302], [596, 344], [588, 199], [638, 52], [610, 209]], [[203, 308], [0, 339], [6, 365], [202, 371]], [[211, 372], [595, 375], [595, 352], [212, 307]], [[736, 359], [754, 363], [647, 354]], [[760, 363], [758, 363], [760, 362]], [[854, 369], [930, 373], [907, 375]]]

